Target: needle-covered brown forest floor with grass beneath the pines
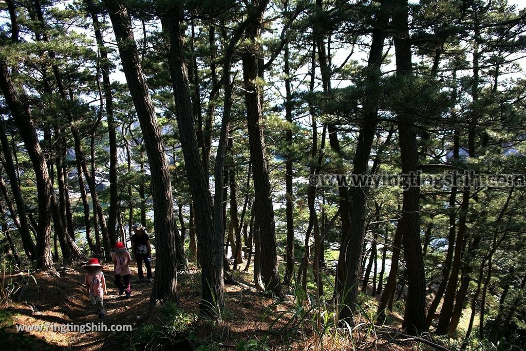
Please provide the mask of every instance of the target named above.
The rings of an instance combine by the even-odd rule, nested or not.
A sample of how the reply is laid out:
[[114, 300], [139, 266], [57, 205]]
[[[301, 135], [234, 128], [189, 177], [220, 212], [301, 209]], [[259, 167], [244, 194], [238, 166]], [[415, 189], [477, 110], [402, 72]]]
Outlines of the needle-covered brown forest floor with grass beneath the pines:
[[[84, 268], [80, 265], [60, 266], [56, 268], [60, 277], [44, 273], [28, 272], [4, 275], [3, 286], [19, 287], [13, 301], [0, 310], [0, 345], [7, 349], [165, 349], [163, 345], [176, 345], [178, 350], [256, 350], [256, 349], [293, 349], [293, 350], [414, 350], [426, 346], [411, 342], [393, 343], [389, 337], [376, 334], [376, 330], [367, 327], [353, 330], [353, 341], [329, 333], [321, 332], [327, 321], [292, 318], [301, 308], [295, 309], [294, 297], [287, 295], [278, 300], [270, 295], [256, 292], [250, 286], [252, 271], [235, 272], [240, 282], [225, 285], [226, 306], [221, 322], [197, 318], [200, 276], [197, 269], [178, 275], [178, 297], [176, 311], [178, 318], [170, 319], [166, 325], [163, 307], [148, 312], [149, 295], [153, 284], [137, 283], [137, 266], [131, 267], [131, 297], [117, 295], [113, 283], [113, 264], [106, 263], [105, 277], [108, 295], [104, 298], [106, 318], [110, 325], [133, 325], [132, 332], [86, 332], [72, 330], [33, 330], [19, 331], [16, 326], [46, 326], [48, 323], [63, 325], [82, 325], [98, 323], [97, 316], [90, 304], [85, 288]], [[243, 265], [244, 267], [244, 265]], [[9, 284], [7, 284], [9, 283]], [[168, 311], [174, 314], [174, 311]], [[165, 317], [163, 317], [165, 316]], [[291, 318], [294, 321], [291, 322]], [[330, 316], [329, 316], [330, 318]], [[389, 328], [400, 327], [400, 318], [393, 314], [389, 317]], [[365, 322], [367, 322], [365, 320]], [[178, 327], [186, 324], [184, 332]], [[321, 327], [321, 328], [320, 328]], [[49, 327], [48, 327], [49, 329]], [[323, 345], [319, 345], [320, 338]], [[169, 341], [167, 341], [169, 339]], [[259, 345], [259, 346], [255, 346]], [[200, 346], [200, 347], [199, 347]]]

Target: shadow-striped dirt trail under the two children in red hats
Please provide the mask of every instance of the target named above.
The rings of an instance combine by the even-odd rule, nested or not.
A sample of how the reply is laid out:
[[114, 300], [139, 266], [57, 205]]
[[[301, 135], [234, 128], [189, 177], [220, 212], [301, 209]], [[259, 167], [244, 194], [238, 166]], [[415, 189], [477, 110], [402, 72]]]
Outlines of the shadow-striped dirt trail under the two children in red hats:
[[[106, 318], [104, 323], [110, 327], [113, 324], [134, 324], [137, 316], [144, 316], [148, 310], [148, 299], [151, 285], [136, 283], [137, 266], [131, 266], [131, 296], [117, 295], [114, 284], [113, 264], [104, 264], [104, 276], [108, 295], [104, 297]], [[39, 349], [69, 348], [95, 350], [104, 345], [104, 340], [113, 335], [112, 332], [79, 333], [59, 330], [17, 332], [15, 325], [47, 325], [69, 324], [82, 325], [98, 323], [98, 316], [86, 296], [83, 287], [85, 270], [79, 267], [57, 266], [60, 277], [49, 276], [44, 273], [35, 274], [37, 285], [31, 283], [22, 288], [16, 296], [16, 302], [6, 309], [9, 316], [7, 333], [2, 333], [0, 343], [7, 342], [14, 349], [21, 349], [20, 340], [23, 338], [31, 346]], [[27, 279], [27, 272], [25, 273]], [[20, 275], [16, 278], [21, 278]], [[48, 328], [49, 329], [49, 328]], [[12, 333], [12, 334], [11, 334]], [[9, 335], [11, 334], [11, 335]], [[6, 338], [7, 340], [2, 340]], [[6, 345], [7, 346], [7, 345]]]

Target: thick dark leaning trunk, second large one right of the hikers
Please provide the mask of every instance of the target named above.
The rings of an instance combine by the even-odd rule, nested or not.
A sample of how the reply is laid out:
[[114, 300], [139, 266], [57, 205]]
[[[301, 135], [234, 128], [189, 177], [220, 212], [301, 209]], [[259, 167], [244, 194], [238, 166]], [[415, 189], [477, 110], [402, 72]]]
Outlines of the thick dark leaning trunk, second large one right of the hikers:
[[[176, 102], [177, 125], [190, 192], [194, 201], [196, 232], [201, 263], [201, 314], [215, 316], [224, 306], [222, 236], [215, 235], [212, 222], [211, 196], [207, 186], [206, 173], [199, 157], [199, 148], [194, 126], [188, 73], [183, 45], [184, 31], [181, 28], [181, 14], [164, 19], [163, 27], [170, 37], [168, 60]], [[217, 188], [216, 188], [217, 189]], [[218, 316], [216, 316], [218, 317]]]

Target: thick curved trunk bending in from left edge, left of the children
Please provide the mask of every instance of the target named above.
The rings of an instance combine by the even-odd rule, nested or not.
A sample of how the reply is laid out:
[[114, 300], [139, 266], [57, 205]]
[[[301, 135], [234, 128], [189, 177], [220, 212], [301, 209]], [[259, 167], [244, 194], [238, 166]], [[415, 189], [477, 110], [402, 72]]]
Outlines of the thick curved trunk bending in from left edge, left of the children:
[[49, 245], [49, 239], [51, 237], [51, 198], [53, 196], [53, 187], [49, 180], [46, 158], [38, 143], [38, 136], [33, 119], [31, 118], [31, 112], [22, 104], [11, 80], [11, 76], [9, 76], [7, 65], [3, 60], [0, 60], [0, 88], [2, 89], [5, 101], [15, 123], [18, 126], [18, 131], [22, 136], [27, 154], [29, 159], [31, 159], [35, 171], [38, 197], [36, 266], [39, 269], [57, 274], [55, 267], [53, 267], [51, 246]]

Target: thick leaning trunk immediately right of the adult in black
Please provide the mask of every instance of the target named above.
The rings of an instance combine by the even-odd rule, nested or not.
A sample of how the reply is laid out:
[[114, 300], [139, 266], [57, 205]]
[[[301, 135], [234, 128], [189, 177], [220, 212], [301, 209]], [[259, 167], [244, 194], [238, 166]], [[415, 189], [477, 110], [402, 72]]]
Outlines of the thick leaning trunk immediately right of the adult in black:
[[120, 61], [139, 117], [150, 165], [155, 236], [157, 246], [163, 248], [157, 251], [155, 282], [150, 295], [150, 306], [153, 306], [157, 299], [174, 301], [177, 299], [177, 272], [174, 269], [176, 235], [174, 233], [171, 177], [161, 130], [144, 78], [143, 67], [140, 64], [128, 11], [118, 1], [106, 0], [105, 4], [112, 20]]

